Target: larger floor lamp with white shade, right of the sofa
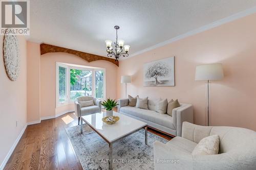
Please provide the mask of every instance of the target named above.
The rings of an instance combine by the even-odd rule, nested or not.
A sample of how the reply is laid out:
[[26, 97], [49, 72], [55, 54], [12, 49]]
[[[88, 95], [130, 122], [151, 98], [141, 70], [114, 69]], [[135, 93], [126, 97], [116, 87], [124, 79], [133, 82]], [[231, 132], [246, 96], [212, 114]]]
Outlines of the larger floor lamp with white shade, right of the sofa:
[[209, 83], [211, 80], [221, 80], [224, 77], [222, 64], [205, 64], [196, 67], [195, 80], [207, 81], [207, 125], [209, 126], [209, 111], [210, 111], [210, 89]]

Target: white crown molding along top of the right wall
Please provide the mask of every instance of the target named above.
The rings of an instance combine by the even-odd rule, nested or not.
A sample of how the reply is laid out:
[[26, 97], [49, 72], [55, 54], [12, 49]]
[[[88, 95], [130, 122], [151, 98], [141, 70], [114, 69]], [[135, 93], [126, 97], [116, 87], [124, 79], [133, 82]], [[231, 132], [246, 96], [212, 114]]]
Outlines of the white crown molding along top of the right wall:
[[[228, 23], [228, 22], [231, 22], [233, 20], [236, 20], [236, 19], [239, 19], [239, 18], [242, 18], [242, 17], [245, 17], [245, 16], [248, 16], [250, 14], [253, 14], [253, 13], [256, 13], [256, 7], [253, 7], [253, 8], [250, 8], [250, 9], [247, 9], [245, 11], [241, 11], [239, 13], [236, 13], [236, 14], [233, 14], [233, 15], [230, 15], [228, 17], [225, 17], [223, 19], [220, 19], [220, 20], [217, 20], [217, 21], [214, 21], [214, 22], [211, 22], [209, 23], [208, 25], [205, 25], [203, 27], [200, 27], [198, 29], [195, 29], [195, 30], [192, 30], [192, 31], [189, 31], [187, 33], [184, 33], [184, 34], [181, 34], [177, 37], [174, 37], [174, 38], [171, 38], [171, 39], [168, 39], [166, 41], [163, 41], [163, 42], [160, 42], [156, 45], [153, 45], [153, 46], [150, 46], [150, 47], [147, 47], [143, 50], [140, 50], [136, 53], [133, 53], [129, 56], [129, 58], [131, 57], [135, 57], [139, 54], [142, 54], [142, 53], [145, 53], [145, 52], [148, 52], [148, 51], [151, 51], [151, 50], [154, 50], [155, 48], [158, 48], [158, 47], [161, 47], [161, 46], [164, 46], [166, 44], [169, 44], [169, 43], [172, 43], [172, 42], [175, 42], [175, 41], [178, 41], [180, 39], [183, 39], [183, 38], [186, 38], [186, 37], [189, 37], [189, 36], [192, 36], [192, 35], [195, 35], [195, 34], [198, 34], [198, 33], [201, 33], [201, 32], [204, 32], [206, 30], [210, 30], [212, 28], [215, 28], [215, 27], [218, 27], [218, 26], [221, 26], [225, 23]], [[126, 60], [127, 58], [123, 58], [121, 59], [120, 61], [122, 60]]]

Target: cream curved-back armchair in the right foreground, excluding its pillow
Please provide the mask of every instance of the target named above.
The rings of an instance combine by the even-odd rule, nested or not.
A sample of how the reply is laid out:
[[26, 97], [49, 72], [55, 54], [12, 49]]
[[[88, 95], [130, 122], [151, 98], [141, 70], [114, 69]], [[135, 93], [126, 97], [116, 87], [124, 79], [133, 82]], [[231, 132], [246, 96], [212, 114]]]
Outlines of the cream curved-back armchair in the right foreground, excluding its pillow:
[[[191, 155], [197, 143], [210, 135], [220, 136], [217, 155]], [[154, 142], [155, 169], [256, 169], [256, 132], [236, 127], [205, 127], [183, 123], [182, 137], [166, 144]], [[173, 160], [172, 163], [163, 163]], [[178, 163], [174, 163], [179, 160]]]

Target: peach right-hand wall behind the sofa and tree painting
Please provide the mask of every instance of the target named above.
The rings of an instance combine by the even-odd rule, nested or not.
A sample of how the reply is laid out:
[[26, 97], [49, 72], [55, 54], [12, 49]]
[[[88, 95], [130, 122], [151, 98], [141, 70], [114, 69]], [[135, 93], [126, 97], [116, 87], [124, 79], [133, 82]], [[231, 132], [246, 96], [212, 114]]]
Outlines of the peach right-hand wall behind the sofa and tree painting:
[[[225, 78], [211, 85], [210, 125], [256, 130], [256, 14], [167, 44], [124, 61], [117, 75], [117, 96], [123, 98], [122, 75], [132, 75], [127, 93], [176, 99], [194, 105], [196, 124], [205, 125], [205, 84], [195, 81], [195, 68], [222, 63]], [[143, 87], [143, 63], [175, 56], [174, 87]]]

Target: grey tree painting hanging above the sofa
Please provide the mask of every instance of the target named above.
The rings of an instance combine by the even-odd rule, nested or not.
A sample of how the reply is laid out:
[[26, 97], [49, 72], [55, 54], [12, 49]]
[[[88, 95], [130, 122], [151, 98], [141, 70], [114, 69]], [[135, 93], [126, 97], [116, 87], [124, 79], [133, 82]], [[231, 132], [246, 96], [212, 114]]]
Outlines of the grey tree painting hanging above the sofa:
[[144, 86], [175, 86], [174, 57], [144, 63]]

